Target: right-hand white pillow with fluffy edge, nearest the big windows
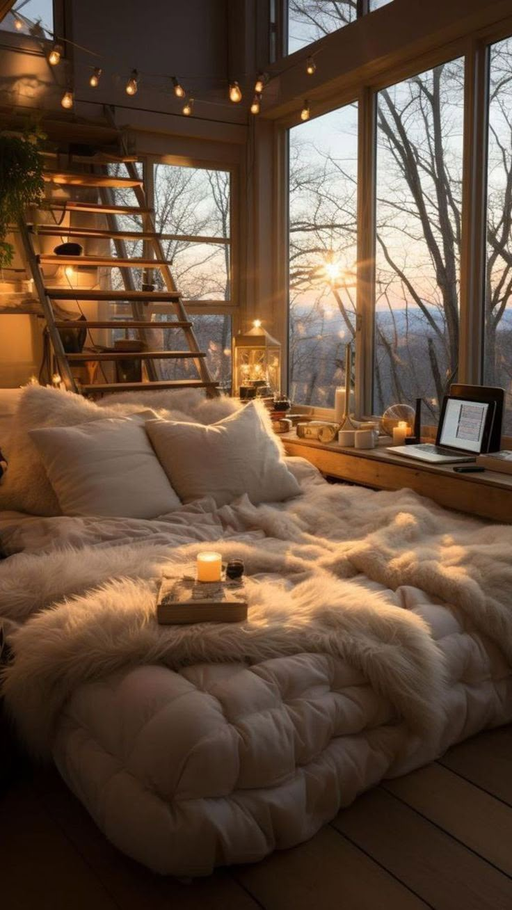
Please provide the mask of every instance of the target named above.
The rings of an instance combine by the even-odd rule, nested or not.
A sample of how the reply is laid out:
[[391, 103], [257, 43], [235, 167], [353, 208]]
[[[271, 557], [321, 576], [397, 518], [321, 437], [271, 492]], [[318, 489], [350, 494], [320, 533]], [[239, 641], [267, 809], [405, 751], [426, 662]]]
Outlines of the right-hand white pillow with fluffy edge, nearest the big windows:
[[221, 506], [247, 493], [257, 505], [300, 493], [269, 424], [266, 410], [251, 401], [208, 427], [147, 420], [145, 429], [182, 501], [212, 496]]

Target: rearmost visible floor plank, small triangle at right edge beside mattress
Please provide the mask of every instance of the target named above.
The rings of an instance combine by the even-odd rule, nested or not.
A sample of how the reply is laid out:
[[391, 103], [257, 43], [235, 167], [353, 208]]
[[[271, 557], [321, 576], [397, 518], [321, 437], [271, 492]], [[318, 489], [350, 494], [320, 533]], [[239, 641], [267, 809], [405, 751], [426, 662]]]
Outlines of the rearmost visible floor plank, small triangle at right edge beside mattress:
[[440, 763], [512, 806], [512, 726], [459, 743]]

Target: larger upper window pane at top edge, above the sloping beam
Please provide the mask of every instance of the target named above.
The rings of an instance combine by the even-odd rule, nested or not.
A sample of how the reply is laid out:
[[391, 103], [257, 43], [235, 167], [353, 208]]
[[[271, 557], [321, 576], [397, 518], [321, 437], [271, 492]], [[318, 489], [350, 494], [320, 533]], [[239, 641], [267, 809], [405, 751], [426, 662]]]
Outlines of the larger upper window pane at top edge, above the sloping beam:
[[288, 0], [288, 54], [357, 17], [357, 0]]

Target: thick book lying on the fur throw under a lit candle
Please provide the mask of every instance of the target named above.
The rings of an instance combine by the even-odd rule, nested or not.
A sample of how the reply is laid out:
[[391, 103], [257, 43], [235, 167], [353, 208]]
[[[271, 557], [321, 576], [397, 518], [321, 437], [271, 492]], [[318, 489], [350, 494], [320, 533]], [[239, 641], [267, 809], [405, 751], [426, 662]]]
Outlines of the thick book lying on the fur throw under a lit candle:
[[156, 619], [165, 625], [242, 622], [247, 618], [244, 581], [196, 581], [164, 575]]

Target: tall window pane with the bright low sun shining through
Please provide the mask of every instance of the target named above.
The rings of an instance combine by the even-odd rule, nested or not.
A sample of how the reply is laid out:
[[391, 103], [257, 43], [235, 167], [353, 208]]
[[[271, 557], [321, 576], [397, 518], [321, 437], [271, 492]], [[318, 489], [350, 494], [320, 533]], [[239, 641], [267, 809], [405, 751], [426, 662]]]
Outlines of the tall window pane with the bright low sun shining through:
[[290, 394], [332, 408], [355, 337], [357, 107], [289, 135]]

